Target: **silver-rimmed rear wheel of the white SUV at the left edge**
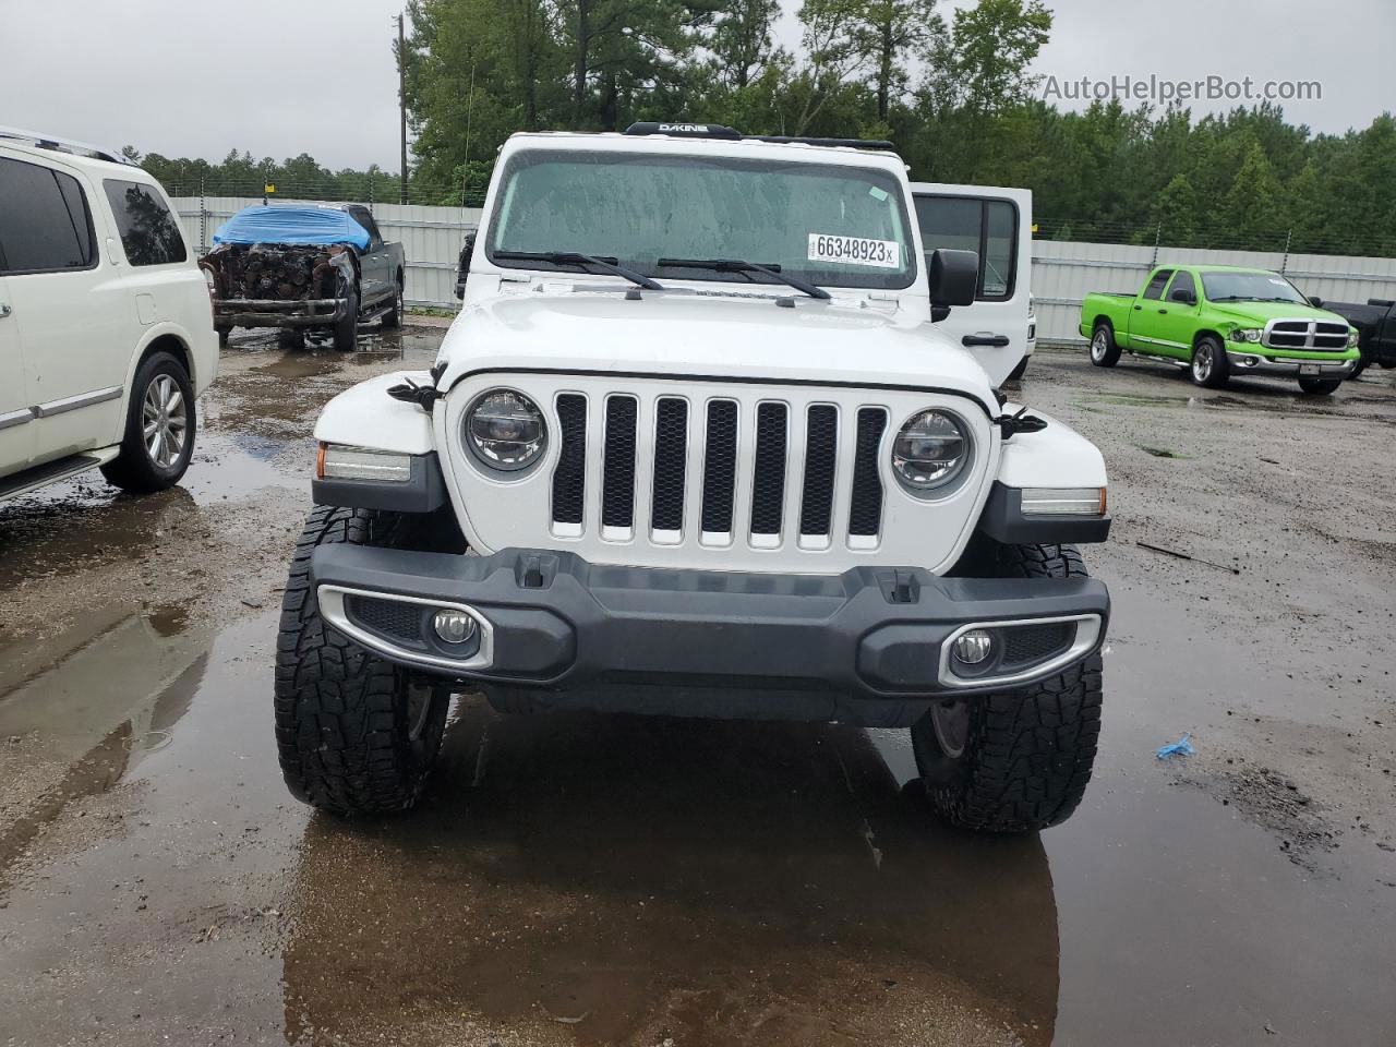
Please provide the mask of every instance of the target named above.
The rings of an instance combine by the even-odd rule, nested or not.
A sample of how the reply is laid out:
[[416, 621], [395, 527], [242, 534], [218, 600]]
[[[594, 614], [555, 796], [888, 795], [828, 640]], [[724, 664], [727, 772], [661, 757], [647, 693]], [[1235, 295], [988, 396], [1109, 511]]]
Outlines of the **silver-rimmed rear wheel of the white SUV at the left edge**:
[[102, 476], [127, 491], [173, 487], [194, 454], [195, 423], [188, 371], [169, 353], [154, 353], [135, 370], [121, 452], [102, 466]]

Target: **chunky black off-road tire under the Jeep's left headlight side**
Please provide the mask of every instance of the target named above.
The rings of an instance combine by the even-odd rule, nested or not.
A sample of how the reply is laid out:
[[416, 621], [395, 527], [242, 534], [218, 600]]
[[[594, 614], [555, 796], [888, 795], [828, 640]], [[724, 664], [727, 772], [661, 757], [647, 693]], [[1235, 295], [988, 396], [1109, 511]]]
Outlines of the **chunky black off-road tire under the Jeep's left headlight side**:
[[292, 794], [342, 815], [416, 804], [441, 748], [447, 687], [327, 627], [310, 581], [318, 546], [398, 546], [419, 521], [317, 505], [290, 561], [276, 638], [275, 720]]

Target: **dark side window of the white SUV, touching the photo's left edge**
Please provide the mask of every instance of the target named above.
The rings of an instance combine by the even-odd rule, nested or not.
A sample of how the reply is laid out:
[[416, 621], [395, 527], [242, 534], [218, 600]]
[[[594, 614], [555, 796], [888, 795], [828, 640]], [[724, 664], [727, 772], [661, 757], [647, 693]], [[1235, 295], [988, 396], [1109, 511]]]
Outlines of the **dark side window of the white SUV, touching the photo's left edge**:
[[0, 159], [0, 274], [96, 265], [96, 233], [77, 179], [38, 163]]

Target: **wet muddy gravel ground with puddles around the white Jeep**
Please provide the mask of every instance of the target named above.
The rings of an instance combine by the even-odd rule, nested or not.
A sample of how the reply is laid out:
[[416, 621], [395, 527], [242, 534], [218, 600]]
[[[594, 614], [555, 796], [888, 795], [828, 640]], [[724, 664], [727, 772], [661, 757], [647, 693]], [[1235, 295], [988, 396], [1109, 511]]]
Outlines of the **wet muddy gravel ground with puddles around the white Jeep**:
[[1396, 1041], [1396, 374], [1033, 360], [1115, 518], [1057, 829], [937, 825], [905, 732], [472, 697], [342, 822], [276, 771], [278, 586], [320, 405], [438, 338], [235, 336], [180, 489], [0, 505], [0, 1044]]

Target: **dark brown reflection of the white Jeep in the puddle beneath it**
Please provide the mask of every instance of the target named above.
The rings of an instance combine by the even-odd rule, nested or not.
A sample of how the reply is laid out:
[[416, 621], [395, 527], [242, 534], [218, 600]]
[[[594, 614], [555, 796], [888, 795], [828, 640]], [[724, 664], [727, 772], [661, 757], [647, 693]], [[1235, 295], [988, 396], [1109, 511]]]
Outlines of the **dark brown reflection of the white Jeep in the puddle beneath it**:
[[903, 772], [847, 727], [465, 702], [422, 810], [313, 819], [288, 1039], [371, 1023], [362, 984], [440, 1015], [581, 1016], [596, 1044], [891, 1043], [956, 1008], [1050, 1041], [1041, 842], [941, 828]]

